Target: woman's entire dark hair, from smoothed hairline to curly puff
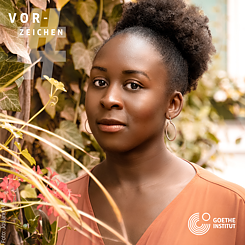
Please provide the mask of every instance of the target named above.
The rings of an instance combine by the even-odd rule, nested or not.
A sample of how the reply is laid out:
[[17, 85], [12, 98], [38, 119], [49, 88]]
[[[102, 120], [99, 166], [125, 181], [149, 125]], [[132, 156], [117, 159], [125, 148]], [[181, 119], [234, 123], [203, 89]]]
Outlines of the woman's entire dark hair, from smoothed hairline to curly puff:
[[124, 5], [110, 39], [130, 33], [150, 41], [166, 65], [169, 90], [185, 94], [196, 89], [215, 53], [208, 22], [198, 7], [183, 0], [138, 0]]

